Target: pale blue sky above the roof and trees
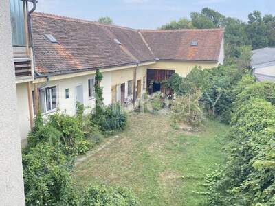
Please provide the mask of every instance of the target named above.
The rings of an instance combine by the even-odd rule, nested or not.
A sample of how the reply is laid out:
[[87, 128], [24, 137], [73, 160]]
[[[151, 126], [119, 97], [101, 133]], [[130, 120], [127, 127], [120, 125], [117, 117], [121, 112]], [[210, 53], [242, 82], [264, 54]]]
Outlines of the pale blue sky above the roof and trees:
[[254, 10], [275, 15], [274, 0], [39, 0], [37, 11], [91, 21], [110, 16], [116, 25], [154, 29], [204, 7], [243, 21]]

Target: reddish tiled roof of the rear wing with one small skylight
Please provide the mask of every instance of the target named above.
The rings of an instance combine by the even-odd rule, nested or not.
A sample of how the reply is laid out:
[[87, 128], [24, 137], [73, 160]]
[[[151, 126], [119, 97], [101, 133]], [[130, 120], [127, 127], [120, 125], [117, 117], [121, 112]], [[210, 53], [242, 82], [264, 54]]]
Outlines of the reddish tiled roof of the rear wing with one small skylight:
[[[141, 30], [141, 33], [153, 54], [161, 60], [219, 60], [222, 29]], [[197, 46], [191, 45], [192, 42]]]

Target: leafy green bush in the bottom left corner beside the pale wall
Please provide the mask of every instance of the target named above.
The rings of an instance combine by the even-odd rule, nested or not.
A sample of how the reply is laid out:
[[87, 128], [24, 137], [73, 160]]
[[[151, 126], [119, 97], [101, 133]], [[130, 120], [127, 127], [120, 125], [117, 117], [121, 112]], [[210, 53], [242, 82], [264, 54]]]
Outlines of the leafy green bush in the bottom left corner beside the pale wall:
[[61, 146], [42, 142], [22, 158], [26, 205], [78, 205], [72, 165]]

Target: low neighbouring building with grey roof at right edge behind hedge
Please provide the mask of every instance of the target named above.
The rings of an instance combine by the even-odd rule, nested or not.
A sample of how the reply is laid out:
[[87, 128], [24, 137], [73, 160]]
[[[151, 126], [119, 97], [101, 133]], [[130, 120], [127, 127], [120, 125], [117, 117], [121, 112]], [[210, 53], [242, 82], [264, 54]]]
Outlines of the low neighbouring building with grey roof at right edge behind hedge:
[[251, 67], [259, 82], [275, 82], [275, 48], [263, 48], [252, 51]]

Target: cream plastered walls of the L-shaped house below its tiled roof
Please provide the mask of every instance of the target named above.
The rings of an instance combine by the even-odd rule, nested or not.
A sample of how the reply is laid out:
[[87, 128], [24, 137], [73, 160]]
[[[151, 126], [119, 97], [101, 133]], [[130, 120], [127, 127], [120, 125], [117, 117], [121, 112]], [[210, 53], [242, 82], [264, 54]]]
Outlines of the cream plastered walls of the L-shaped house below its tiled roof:
[[[123, 67], [113, 67], [107, 69], [101, 69], [103, 79], [101, 86], [103, 87], [104, 104], [108, 105], [112, 102], [122, 102], [131, 104], [133, 100], [133, 85], [134, 85], [134, 71], [136, 68], [136, 82], [135, 91], [137, 95], [142, 95], [146, 92], [146, 72], [147, 69], [168, 69], [175, 70], [175, 73], [179, 73], [180, 76], [187, 76], [187, 74], [195, 66], [199, 66], [202, 69], [210, 69], [217, 67], [218, 62], [190, 62], [183, 60], [160, 60], [157, 62], [148, 62], [141, 65], [129, 65]], [[56, 101], [57, 106], [55, 109], [45, 111], [43, 115], [47, 117], [54, 113], [57, 109], [68, 115], [76, 114], [76, 87], [80, 86], [83, 94], [83, 104], [85, 106], [85, 112], [89, 113], [91, 108], [94, 108], [94, 97], [89, 97], [88, 81], [93, 80], [96, 71], [85, 71], [78, 73], [69, 73], [59, 76], [51, 76], [50, 82], [46, 84], [46, 78], [37, 78], [34, 83], [38, 84], [38, 87], [44, 85], [43, 89], [49, 87], [56, 87]], [[132, 82], [131, 82], [132, 81]], [[46, 84], [46, 85], [45, 85]], [[131, 84], [131, 85], [130, 85]], [[123, 89], [124, 88], [124, 89]], [[17, 100], [19, 103], [19, 124], [21, 140], [24, 140], [30, 131], [30, 115], [28, 112], [28, 83], [17, 84]], [[33, 89], [33, 87], [32, 87]], [[132, 89], [132, 92], [129, 92]], [[66, 97], [66, 92], [69, 97]], [[124, 95], [124, 98], [123, 98]], [[137, 96], [138, 98], [139, 96]]]

